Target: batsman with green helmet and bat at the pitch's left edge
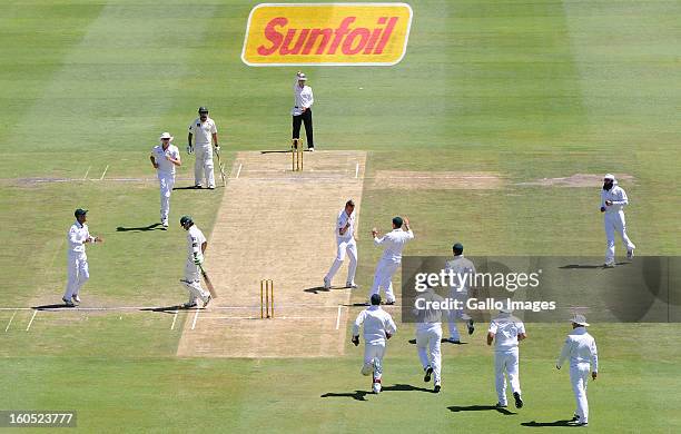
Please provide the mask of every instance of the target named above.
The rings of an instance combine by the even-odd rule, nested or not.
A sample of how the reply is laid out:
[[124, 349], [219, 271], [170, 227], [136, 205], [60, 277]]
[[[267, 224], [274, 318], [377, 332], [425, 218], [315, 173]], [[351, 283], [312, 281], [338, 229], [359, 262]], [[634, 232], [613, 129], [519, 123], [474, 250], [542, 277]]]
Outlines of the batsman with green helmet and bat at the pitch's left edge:
[[199, 298], [206, 307], [210, 303], [210, 293], [201, 287], [199, 267], [204, 264], [204, 251], [206, 251], [208, 241], [191, 217], [182, 216], [180, 225], [187, 230], [187, 264], [185, 265], [185, 278], [180, 282], [189, 292], [189, 300], [184, 304], [184, 307], [196, 307], [196, 300]]

